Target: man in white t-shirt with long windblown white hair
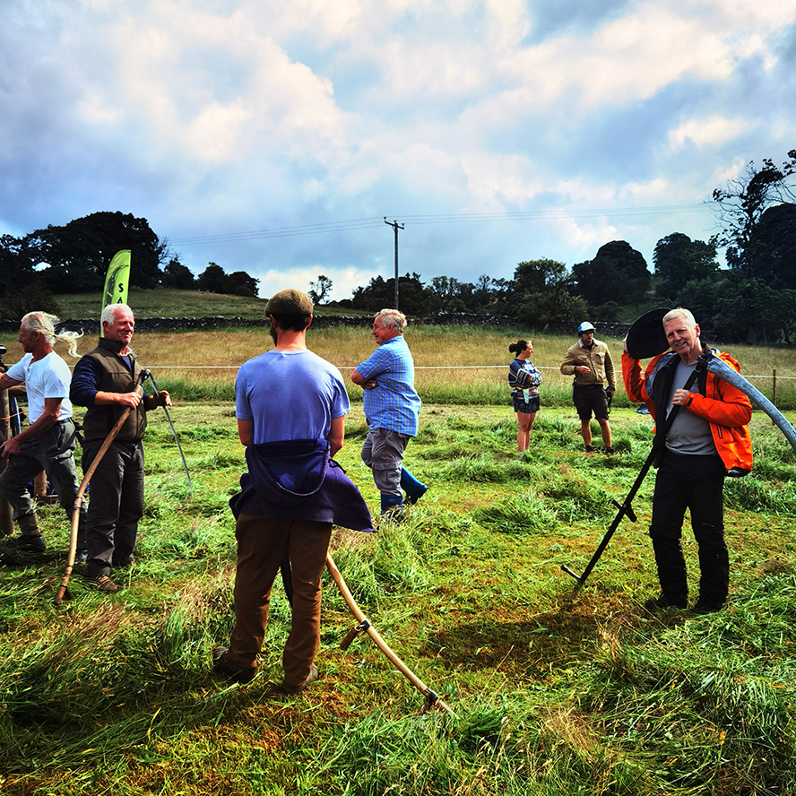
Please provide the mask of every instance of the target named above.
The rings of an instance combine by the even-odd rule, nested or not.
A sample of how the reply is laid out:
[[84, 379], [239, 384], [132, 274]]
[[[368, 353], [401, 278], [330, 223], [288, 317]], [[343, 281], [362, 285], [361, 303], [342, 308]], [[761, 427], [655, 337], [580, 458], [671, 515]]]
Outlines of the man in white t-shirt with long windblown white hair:
[[[30, 482], [46, 472], [56, 489], [58, 502], [72, 519], [74, 498], [79, 488], [74, 466], [77, 431], [69, 401], [72, 374], [64, 359], [53, 350], [63, 340], [70, 357], [77, 357], [76, 332], [56, 333], [58, 318], [46, 312], [29, 312], [22, 318], [19, 341], [24, 356], [0, 376], [0, 390], [25, 385], [29, 425], [0, 446], [0, 457], [8, 464], [0, 474], [0, 492], [13, 509], [20, 535], [6, 542], [14, 557], [39, 557], [47, 548], [39, 528], [39, 516]], [[77, 558], [85, 558], [85, 506], [78, 517]]]

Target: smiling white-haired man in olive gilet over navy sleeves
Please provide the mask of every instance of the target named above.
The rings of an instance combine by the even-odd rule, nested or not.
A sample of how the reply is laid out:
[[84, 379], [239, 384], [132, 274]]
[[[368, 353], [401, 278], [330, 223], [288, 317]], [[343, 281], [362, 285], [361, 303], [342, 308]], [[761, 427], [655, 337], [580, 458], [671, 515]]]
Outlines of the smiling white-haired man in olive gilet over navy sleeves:
[[141, 395], [142, 368], [130, 348], [135, 328], [133, 310], [111, 304], [100, 316], [102, 333], [96, 348], [74, 366], [69, 395], [75, 406], [88, 407], [83, 418], [82, 468], [87, 472], [125, 409], [132, 410], [91, 476], [86, 520], [86, 569], [83, 581], [99, 592], [118, 592], [111, 568], [134, 563], [138, 523], [143, 515], [143, 435], [146, 412], [171, 406], [169, 393]]

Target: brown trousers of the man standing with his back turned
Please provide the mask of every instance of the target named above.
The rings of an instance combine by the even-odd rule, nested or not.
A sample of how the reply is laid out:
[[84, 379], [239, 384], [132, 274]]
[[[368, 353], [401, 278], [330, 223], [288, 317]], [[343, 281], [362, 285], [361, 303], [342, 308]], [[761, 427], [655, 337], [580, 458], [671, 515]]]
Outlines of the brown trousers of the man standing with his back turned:
[[241, 666], [256, 666], [263, 648], [271, 589], [281, 562], [290, 558], [293, 607], [282, 653], [285, 683], [301, 686], [320, 645], [321, 575], [332, 538], [332, 523], [238, 516], [238, 568], [235, 573], [235, 627], [231, 657]]

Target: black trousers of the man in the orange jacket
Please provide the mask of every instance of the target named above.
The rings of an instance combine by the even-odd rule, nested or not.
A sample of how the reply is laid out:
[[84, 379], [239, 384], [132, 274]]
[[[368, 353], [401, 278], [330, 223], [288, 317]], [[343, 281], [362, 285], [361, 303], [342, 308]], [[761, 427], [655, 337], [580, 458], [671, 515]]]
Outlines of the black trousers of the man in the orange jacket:
[[686, 509], [699, 548], [699, 599], [719, 608], [730, 588], [730, 557], [724, 543], [724, 464], [719, 456], [674, 454], [667, 450], [658, 468], [653, 496], [655, 563], [664, 597], [688, 601], [686, 561], [681, 543]]

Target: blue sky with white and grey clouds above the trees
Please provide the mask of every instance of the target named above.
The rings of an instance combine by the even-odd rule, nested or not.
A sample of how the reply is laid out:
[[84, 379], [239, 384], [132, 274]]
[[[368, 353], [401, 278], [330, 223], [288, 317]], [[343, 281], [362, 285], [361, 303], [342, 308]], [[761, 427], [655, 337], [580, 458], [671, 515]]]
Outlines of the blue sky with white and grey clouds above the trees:
[[652, 270], [796, 148], [796, 0], [3, 0], [0, 232], [131, 212], [260, 295]]

